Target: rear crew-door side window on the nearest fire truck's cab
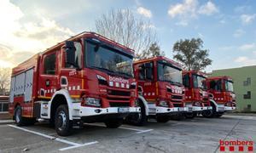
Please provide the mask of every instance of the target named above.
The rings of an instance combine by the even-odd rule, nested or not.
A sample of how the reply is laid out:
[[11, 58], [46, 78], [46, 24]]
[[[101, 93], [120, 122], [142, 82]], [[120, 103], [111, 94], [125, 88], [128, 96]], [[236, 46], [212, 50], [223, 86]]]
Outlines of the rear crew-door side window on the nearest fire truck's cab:
[[44, 74], [55, 75], [56, 54], [49, 54], [44, 58]]

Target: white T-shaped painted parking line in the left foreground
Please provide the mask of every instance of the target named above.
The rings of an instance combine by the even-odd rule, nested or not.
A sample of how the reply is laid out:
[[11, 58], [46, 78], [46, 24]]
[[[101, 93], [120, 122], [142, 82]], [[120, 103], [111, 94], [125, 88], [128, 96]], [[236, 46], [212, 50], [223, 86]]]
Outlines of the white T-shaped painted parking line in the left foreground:
[[79, 143], [75, 143], [75, 142], [72, 142], [72, 141], [68, 141], [67, 139], [56, 138], [56, 137], [49, 136], [49, 135], [44, 134], [44, 133], [38, 133], [38, 132], [35, 132], [35, 131], [32, 131], [32, 130], [28, 130], [28, 129], [23, 128], [23, 127], [17, 127], [15, 125], [10, 125], [9, 124], [9, 127], [14, 127], [16, 129], [20, 129], [20, 130], [25, 131], [27, 133], [33, 133], [33, 134], [36, 134], [36, 135], [40, 135], [44, 138], [54, 139], [55, 141], [59, 141], [59, 142], [64, 143], [64, 144], [73, 145], [73, 146], [69, 146], [69, 147], [66, 147], [66, 148], [61, 148], [59, 150], [70, 150], [70, 149], [73, 149], [73, 148], [78, 148], [78, 147], [81, 147], [81, 146], [86, 146], [86, 145], [97, 144], [98, 143], [98, 141], [92, 141], [92, 142], [85, 143], [85, 144], [79, 144]]

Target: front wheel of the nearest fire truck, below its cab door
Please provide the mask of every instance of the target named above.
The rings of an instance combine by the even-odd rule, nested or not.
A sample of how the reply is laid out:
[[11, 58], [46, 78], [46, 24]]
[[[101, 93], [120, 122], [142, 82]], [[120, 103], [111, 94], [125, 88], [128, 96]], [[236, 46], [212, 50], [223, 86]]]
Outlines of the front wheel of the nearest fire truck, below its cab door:
[[60, 105], [55, 112], [55, 130], [58, 135], [68, 136], [72, 133], [73, 122], [69, 120], [67, 105]]

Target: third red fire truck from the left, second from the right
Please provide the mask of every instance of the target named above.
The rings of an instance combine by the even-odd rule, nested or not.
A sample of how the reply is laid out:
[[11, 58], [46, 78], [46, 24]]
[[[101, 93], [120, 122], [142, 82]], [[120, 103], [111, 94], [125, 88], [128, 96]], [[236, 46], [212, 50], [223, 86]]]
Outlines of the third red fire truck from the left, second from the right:
[[212, 113], [206, 79], [206, 74], [201, 71], [183, 71], [184, 103], [189, 108], [189, 112], [185, 113], [187, 118]]

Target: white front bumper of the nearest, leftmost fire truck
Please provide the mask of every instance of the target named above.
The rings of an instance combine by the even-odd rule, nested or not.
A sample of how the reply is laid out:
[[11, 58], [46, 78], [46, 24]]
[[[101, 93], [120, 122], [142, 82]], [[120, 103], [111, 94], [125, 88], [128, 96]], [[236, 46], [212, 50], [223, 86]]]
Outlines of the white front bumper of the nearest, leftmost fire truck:
[[[122, 109], [125, 108], [125, 109]], [[140, 107], [108, 107], [108, 108], [95, 108], [84, 107], [79, 108], [79, 117], [82, 116], [99, 116], [108, 114], [122, 114], [122, 113], [136, 113], [140, 112]]]

